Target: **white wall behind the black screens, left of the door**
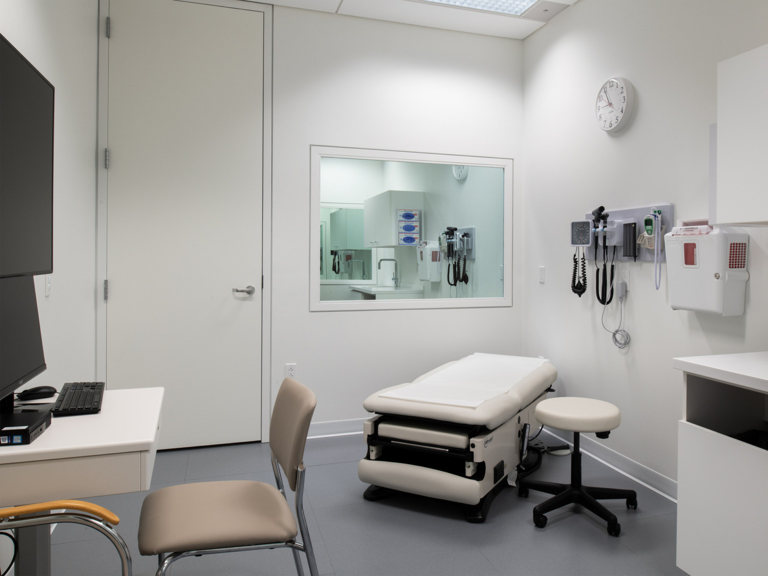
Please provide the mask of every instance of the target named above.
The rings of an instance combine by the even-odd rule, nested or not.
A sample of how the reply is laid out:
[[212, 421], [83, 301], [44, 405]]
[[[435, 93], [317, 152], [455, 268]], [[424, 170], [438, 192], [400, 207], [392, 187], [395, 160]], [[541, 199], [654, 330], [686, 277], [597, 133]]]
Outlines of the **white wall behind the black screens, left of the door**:
[[0, 32], [55, 87], [51, 295], [35, 279], [48, 369], [28, 386], [95, 375], [98, 2], [3, 0]]

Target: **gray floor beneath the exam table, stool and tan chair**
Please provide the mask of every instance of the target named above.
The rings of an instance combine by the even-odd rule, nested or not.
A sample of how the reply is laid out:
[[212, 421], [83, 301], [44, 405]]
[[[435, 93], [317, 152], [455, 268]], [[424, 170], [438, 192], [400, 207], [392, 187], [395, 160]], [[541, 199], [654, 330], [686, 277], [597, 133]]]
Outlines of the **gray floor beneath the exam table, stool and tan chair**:
[[[184, 455], [187, 462], [184, 464]], [[622, 525], [607, 535], [604, 522], [571, 505], [548, 514], [536, 528], [532, 508], [549, 495], [519, 498], [502, 491], [483, 524], [465, 521], [464, 506], [399, 494], [366, 502], [357, 478], [362, 437], [307, 442], [306, 520], [321, 574], [682, 574], [674, 565], [676, 505], [630, 478], [584, 456], [584, 482], [637, 491], [640, 507], [604, 501]], [[152, 489], [181, 482], [255, 480], [274, 483], [269, 446], [230, 445], [161, 452]], [[545, 456], [535, 477], [567, 482], [570, 458]], [[134, 558], [134, 574], [154, 574], [156, 559], [137, 551], [136, 534], [145, 492], [91, 498], [121, 517], [118, 531]], [[288, 500], [293, 508], [293, 493]], [[59, 525], [51, 536], [54, 574], [118, 574], [118, 555], [98, 533]], [[306, 561], [304, 561], [305, 570]], [[252, 551], [188, 558], [174, 574], [295, 574], [290, 551]]]

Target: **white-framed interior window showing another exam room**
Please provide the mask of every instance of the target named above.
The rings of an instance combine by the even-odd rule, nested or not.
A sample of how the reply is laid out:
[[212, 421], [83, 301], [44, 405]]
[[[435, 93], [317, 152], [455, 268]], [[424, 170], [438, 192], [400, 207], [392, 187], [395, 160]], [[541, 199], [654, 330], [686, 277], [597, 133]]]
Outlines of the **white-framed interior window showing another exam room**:
[[510, 160], [312, 155], [310, 310], [511, 305]]

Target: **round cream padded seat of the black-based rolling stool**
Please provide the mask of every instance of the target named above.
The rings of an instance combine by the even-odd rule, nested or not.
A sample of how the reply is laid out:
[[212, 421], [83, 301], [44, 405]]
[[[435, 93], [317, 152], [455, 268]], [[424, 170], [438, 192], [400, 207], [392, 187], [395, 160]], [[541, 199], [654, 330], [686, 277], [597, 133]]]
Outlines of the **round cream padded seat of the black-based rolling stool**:
[[608, 432], [621, 424], [621, 412], [611, 402], [562, 396], [541, 400], [536, 406], [536, 419], [561, 430]]

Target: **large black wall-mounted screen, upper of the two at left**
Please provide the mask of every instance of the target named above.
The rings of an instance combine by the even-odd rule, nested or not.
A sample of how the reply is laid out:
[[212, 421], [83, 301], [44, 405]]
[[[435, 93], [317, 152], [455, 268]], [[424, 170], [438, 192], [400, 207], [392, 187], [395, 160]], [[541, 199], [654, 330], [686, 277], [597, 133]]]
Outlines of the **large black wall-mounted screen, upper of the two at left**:
[[53, 271], [54, 88], [0, 35], [0, 278]]

